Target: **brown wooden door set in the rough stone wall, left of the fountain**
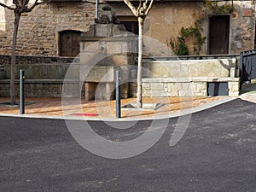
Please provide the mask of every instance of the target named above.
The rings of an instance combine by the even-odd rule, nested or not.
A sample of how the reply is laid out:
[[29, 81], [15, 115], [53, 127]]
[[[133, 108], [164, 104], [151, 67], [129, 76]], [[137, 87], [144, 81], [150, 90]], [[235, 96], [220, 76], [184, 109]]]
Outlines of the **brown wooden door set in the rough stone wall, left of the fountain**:
[[75, 57], [79, 55], [80, 43], [79, 31], [63, 31], [60, 32], [60, 55]]

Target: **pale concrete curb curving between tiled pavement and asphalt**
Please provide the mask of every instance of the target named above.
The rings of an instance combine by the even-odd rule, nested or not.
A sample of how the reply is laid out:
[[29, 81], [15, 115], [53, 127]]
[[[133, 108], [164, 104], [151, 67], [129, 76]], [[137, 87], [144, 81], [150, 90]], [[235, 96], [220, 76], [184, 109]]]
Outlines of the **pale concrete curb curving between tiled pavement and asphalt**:
[[6, 114], [6, 113], [0, 113], [0, 116], [2, 117], [19, 117], [19, 118], [32, 118], [32, 119], [68, 119], [68, 120], [88, 120], [88, 121], [138, 121], [138, 120], [153, 120], [153, 119], [169, 119], [169, 118], [176, 118], [183, 115], [188, 115], [191, 113], [200, 112], [203, 110], [206, 110], [207, 108], [213, 108], [215, 106], [221, 105], [225, 102], [231, 102], [233, 100], [236, 100], [237, 97], [225, 97], [223, 99], [220, 99], [215, 102], [209, 102], [206, 104], [203, 104], [201, 106], [195, 107], [195, 108], [188, 108], [184, 109], [181, 112], [178, 113], [169, 113], [166, 115], [160, 115], [160, 116], [153, 116], [148, 118], [95, 118], [95, 117], [74, 117], [74, 116], [47, 116], [47, 115], [32, 115], [32, 114]]

